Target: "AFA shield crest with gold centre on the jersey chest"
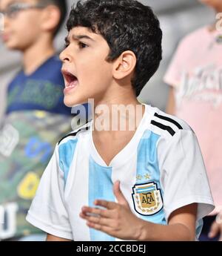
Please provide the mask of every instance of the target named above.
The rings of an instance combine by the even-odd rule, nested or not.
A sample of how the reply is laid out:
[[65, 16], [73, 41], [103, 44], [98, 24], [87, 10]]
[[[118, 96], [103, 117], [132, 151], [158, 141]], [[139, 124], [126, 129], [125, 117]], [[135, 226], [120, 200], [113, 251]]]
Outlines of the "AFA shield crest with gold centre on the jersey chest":
[[132, 200], [138, 214], [149, 216], [163, 208], [161, 190], [156, 183], [138, 184], [132, 191]]

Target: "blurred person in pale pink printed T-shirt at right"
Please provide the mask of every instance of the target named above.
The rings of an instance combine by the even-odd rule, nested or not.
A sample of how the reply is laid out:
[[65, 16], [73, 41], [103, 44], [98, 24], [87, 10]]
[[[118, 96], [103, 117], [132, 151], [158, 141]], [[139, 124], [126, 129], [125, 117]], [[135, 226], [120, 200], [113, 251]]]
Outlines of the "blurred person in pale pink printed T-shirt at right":
[[[221, 0], [200, 1], [222, 13]], [[203, 219], [200, 240], [222, 240], [222, 27], [216, 22], [181, 41], [164, 77], [170, 85], [166, 112], [194, 129], [215, 200], [215, 211]]]

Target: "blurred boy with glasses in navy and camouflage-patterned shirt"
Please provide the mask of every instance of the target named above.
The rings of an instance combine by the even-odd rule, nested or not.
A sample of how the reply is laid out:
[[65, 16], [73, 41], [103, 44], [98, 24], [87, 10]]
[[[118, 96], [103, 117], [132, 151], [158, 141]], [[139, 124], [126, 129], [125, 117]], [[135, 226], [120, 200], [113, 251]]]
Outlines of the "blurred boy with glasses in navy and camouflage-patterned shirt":
[[[53, 39], [67, 14], [64, 0], [1, 0], [10, 50], [23, 55], [23, 70], [10, 83], [0, 130], [0, 240], [44, 240], [25, 220], [55, 143], [70, 131], [64, 79]], [[2, 61], [2, 59], [1, 59]]]

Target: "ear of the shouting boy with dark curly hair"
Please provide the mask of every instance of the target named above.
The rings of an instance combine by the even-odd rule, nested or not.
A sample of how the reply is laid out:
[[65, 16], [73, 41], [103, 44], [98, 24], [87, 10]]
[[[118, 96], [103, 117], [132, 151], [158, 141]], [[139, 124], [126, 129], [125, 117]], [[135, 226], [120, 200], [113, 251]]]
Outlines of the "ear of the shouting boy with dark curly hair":
[[126, 50], [115, 60], [112, 75], [115, 79], [124, 79], [130, 74], [133, 75], [136, 65], [136, 56], [132, 50]]

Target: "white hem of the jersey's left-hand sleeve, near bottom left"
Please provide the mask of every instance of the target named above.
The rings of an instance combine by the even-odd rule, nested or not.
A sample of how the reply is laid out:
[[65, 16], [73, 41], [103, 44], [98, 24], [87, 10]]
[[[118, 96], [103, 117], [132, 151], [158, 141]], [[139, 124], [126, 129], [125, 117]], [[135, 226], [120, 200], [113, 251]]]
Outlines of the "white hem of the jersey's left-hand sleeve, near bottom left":
[[44, 223], [44, 221], [39, 220], [37, 217], [33, 216], [33, 214], [30, 214], [30, 211], [27, 214], [26, 220], [27, 220], [27, 222], [29, 222], [33, 226], [36, 226], [38, 229], [41, 229], [42, 231], [46, 232], [47, 234], [53, 234], [56, 237], [73, 240], [73, 235], [71, 232], [59, 230], [57, 227], [55, 228], [54, 226], [52, 226], [50, 224]]

